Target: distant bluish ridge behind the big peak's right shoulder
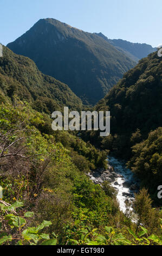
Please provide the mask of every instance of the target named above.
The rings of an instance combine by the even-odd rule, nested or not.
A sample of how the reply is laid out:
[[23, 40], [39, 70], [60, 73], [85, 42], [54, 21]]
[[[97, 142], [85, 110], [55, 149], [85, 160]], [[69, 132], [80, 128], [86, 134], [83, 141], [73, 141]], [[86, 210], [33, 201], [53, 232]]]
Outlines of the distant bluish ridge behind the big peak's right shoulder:
[[96, 35], [101, 36], [109, 44], [113, 45], [120, 52], [125, 53], [126, 56], [132, 58], [135, 62], [138, 62], [139, 59], [145, 58], [148, 54], [157, 51], [157, 48], [153, 48], [151, 45], [147, 44], [138, 44], [134, 42], [129, 42], [122, 39], [108, 39], [102, 33], [95, 33]]

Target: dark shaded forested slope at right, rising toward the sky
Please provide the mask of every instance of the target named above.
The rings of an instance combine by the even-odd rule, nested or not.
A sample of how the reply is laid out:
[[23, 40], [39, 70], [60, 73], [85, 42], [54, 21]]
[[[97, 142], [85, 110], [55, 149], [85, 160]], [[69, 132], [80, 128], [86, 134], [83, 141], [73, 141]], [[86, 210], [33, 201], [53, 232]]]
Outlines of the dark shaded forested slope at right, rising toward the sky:
[[129, 139], [140, 129], [142, 138], [146, 138], [148, 132], [162, 126], [161, 72], [162, 60], [157, 52], [152, 53], [141, 59], [95, 105], [97, 111], [111, 111], [111, 135]]

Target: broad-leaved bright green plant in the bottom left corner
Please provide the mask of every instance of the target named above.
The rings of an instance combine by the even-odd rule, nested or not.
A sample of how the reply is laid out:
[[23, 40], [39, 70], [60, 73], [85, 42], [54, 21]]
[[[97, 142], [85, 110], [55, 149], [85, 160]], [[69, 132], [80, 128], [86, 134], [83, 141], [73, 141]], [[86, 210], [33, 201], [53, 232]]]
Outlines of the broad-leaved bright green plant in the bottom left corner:
[[[43, 221], [40, 225], [37, 225], [37, 227], [27, 227], [24, 229], [27, 225], [25, 218], [33, 217], [34, 212], [25, 212], [24, 216], [20, 217], [15, 210], [22, 206], [23, 203], [21, 202], [16, 202], [9, 206], [5, 206], [4, 202], [0, 204], [2, 218], [0, 245], [37, 245], [37, 243], [42, 240], [44, 240], [42, 245], [54, 244], [54, 241], [50, 240], [48, 234], [41, 232], [42, 229], [51, 225], [50, 221]], [[12, 235], [8, 235], [8, 233]]]

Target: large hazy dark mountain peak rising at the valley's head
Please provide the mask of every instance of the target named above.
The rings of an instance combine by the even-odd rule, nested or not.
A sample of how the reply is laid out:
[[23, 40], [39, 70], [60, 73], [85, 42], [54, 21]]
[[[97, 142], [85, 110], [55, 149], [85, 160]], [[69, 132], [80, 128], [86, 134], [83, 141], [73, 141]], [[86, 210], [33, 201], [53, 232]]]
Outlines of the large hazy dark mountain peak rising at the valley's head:
[[54, 19], [39, 20], [8, 47], [33, 59], [47, 75], [96, 103], [135, 63], [100, 36]]

